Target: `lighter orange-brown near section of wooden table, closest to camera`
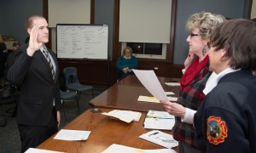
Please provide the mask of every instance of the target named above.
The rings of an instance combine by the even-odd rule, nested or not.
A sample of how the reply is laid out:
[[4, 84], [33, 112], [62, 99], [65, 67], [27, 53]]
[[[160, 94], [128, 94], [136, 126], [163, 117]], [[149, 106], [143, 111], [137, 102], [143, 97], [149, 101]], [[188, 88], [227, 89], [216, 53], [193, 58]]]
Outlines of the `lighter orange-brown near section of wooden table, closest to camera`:
[[[113, 109], [103, 108], [104, 112]], [[101, 113], [93, 113], [90, 110], [85, 111], [73, 122], [67, 124], [63, 129], [91, 131], [90, 136], [85, 141], [65, 141], [53, 139], [55, 134], [44, 143], [38, 145], [38, 149], [63, 151], [67, 153], [99, 153], [106, 150], [111, 144], [123, 144], [126, 146], [143, 149], [161, 149], [158, 144], [148, 142], [138, 138], [141, 134], [147, 133], [148, 129], [143, 128], [143, 119], [146, 112], [143, 112], [139, 122], [126, 123], [111, 119]], [[172, 133], [171, 131], [163, 131]], [[177, 151], [177, 147], [173, 148]], [[178, 151], [177, 151], [178, 152]]]

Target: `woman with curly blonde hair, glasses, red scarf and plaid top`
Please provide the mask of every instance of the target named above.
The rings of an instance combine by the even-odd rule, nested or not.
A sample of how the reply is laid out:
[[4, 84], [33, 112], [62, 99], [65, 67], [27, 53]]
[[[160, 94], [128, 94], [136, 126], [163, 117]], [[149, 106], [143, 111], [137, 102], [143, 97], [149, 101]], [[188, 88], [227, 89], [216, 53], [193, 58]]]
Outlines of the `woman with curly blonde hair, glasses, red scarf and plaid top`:
[[195, 148], [195, 129], [192, 122], [195, 112], [205, 98], [202, 91], [211, 76], [208, 58], [209, 37], [213, 29], [224, 20], [222, 15], [205, 12], [193, 14], [189, 18], [186, 26], [189, 31], [189, 56], [184, 63], [186, 71], [181, 78], [178, 102], [160, 101], [167, 112], [176, 116], [172, 131], [173, 138], [179, 141], [180, 153], [201, 152]]

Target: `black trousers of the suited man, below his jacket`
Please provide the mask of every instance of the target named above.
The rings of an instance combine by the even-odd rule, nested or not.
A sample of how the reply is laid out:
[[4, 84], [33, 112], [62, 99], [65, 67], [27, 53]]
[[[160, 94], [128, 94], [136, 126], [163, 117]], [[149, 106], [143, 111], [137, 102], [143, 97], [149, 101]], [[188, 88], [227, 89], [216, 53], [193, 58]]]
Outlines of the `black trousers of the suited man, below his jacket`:
[[52, 111], [51, 119], [45, 127], [34, 127], [18, 124], [21, 140], [21, 152], [29, 148], [36, 148], [44, 140], [58, 131], [55, 108]]

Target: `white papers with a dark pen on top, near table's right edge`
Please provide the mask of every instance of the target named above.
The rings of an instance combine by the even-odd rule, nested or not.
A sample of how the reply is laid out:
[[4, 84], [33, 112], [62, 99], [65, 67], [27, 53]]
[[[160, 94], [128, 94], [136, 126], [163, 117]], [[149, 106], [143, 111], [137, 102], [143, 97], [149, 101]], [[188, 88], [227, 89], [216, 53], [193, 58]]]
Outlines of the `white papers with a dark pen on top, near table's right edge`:
[[144, 133], [143, 135], [139, 136], [141, 139], [148, 140], [154, 144], [159, 144], [166, 148], [176, 147], [178, 142], [173, 139], [171, 134], [163, 133], [159, 130], [153, 130], [148, 133]]

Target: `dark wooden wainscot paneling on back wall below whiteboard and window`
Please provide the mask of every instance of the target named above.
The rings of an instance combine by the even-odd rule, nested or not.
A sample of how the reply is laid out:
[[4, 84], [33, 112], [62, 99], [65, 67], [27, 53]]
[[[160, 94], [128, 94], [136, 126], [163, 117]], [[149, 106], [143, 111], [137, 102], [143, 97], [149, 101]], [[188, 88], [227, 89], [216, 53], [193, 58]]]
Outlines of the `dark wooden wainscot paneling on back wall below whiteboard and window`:
[[[139, 60], [139, 70], [154, 70], [158, 77], [182, 77], [183, 65], [173, 65], [170, 62], [160, 62], [154, 60]], [[95, 85], [99, 87], [108, 86], [108, 61], [84, 61], [84, 60], [65, 60], [59, 59], [60, 71], [63, 73], [65, 67], [73, 66], [78, 69], [79, 81], [84, 84]], [[117, 79], [117, 70], [115, 68], [116, 59], [110, 61], [109, 83], [113, 85]]]

